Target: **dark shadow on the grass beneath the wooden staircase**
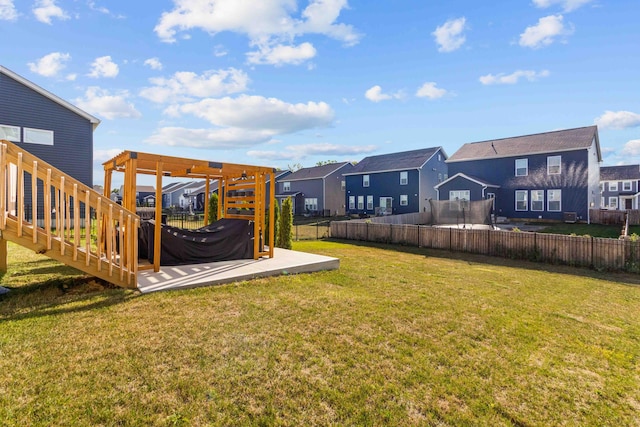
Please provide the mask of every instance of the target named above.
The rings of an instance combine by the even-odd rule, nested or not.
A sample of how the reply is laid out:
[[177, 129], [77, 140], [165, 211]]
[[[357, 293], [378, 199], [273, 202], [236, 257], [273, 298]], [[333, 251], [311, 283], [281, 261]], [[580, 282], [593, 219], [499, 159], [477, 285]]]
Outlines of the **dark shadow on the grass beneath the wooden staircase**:
[[[59, 272], [60, 275], [22, 286], [3, 285], [9, 292], [0, 295], [0, 322], [99, 310], [121, 304], [138, 294], [95, 277], [69, 275], [69, 267], [66, 266], [44, 267], [40, 270], [45, 270], [47, 274]], [[29, 272], [35, 273], [34, 270]]]

